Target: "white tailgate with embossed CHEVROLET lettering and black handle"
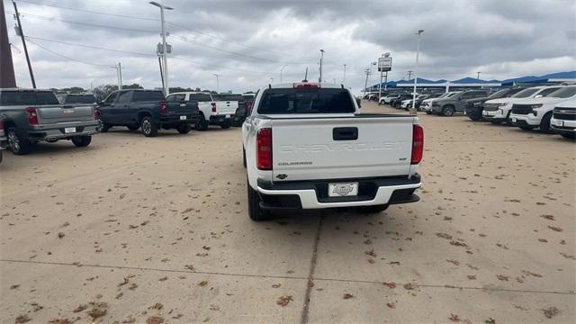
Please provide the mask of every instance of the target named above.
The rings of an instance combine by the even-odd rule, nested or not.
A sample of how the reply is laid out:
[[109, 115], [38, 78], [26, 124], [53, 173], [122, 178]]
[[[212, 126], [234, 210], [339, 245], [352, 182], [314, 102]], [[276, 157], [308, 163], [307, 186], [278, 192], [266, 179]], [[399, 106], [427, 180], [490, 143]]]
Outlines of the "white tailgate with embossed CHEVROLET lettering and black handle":
[[274, 181], [408, 175], [410, 116], [274, 119]]

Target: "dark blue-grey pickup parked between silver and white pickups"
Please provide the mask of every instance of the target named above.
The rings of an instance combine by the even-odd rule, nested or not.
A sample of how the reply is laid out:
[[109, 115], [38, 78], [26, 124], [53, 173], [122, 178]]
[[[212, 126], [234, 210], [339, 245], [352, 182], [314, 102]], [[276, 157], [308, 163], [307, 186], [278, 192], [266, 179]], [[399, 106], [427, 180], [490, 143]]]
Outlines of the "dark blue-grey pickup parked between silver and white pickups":
[[158, 129], [176, 129], [181, 134], [191, 130], [200, 119], [198, 103], [167, 101], [159, 90], [121, 90], [98, 103], [100, 131], [112, 126], [142, 129], [146, 137], [157, 136]]

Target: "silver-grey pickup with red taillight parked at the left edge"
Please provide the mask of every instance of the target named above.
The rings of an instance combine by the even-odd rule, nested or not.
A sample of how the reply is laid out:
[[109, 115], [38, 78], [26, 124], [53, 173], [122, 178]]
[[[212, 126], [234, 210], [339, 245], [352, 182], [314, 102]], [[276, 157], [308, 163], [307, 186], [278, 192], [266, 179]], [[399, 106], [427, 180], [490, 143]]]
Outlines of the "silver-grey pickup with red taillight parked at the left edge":
[[76, 147], [88, 146], [97, 132], [94, 110], [94, 104], [60, 104], [49, 90], [0, 89], [4, 131], [16, 155], [28, 153], [40, 141], [70, 139]]

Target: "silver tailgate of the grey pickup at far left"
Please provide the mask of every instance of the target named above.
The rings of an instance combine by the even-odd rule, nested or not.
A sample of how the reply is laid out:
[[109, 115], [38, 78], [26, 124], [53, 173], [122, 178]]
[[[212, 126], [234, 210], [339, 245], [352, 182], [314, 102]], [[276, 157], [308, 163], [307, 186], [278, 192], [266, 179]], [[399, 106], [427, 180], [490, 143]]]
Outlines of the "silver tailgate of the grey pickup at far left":
[[40, 105], [36, 108], [39, 123], [94, 121], [92, 105]]

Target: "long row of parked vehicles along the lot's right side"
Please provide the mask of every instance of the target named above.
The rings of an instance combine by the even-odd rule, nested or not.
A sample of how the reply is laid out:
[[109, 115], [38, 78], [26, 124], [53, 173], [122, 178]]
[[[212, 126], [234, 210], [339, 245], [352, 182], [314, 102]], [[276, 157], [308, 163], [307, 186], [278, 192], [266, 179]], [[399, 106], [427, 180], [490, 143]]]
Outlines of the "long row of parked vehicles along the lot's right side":
[[[412, 94], [388, 94], [380, 103], [409, 109]], [[416, 107], [428, 114], [465, 113], [473, 121], [507, 123], [522, 130], [539, 129], [576, 138], [576, 85], [572, 84], [520, 85], [493, 94], [488, 90], [417, 94]]]

